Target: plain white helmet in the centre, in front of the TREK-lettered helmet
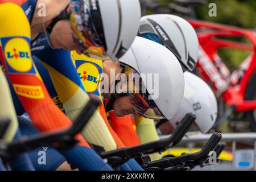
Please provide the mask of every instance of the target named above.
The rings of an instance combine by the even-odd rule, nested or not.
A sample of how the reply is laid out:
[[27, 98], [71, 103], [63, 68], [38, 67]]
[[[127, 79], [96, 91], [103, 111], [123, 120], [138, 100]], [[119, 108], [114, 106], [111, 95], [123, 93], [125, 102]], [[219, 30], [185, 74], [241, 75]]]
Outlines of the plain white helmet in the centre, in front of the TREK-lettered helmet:
[[[133, 90], [129, 95], [135, 113], [151, 119], [171, 119], [184, 93], [183, 70], [175, 55], [166, 47], [137, 36], [120, 61], [124, 72], [133, 73], [130, 80], [137, 92]], [[134, 81], [136, 75], [141, 78], [139, 84]]]

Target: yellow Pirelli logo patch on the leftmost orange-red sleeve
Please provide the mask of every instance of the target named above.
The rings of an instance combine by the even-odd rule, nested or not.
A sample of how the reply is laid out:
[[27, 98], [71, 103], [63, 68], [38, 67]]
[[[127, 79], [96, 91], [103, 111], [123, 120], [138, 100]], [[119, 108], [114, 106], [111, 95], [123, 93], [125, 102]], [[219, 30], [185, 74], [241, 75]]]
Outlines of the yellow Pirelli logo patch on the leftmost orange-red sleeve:
[[44, 98], [43, 89], [41, 86], [30, 86], [30, 85], [19, 85], [13, 84], [16, 94], [19, 96], [32, 98], [32, 99], [42, 99]]

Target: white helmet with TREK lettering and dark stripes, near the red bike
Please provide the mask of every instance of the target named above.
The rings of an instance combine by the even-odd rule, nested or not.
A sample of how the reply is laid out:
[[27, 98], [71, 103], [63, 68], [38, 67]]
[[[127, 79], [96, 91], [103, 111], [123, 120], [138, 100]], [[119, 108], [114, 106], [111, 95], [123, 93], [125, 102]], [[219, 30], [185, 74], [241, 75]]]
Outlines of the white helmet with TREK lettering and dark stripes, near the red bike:
[[183, 71], [193, 71], [196, 67], [199, 41], [187, 20], [167, 14], [143, 16], [139, 35], [170, 49], [180, 61]]

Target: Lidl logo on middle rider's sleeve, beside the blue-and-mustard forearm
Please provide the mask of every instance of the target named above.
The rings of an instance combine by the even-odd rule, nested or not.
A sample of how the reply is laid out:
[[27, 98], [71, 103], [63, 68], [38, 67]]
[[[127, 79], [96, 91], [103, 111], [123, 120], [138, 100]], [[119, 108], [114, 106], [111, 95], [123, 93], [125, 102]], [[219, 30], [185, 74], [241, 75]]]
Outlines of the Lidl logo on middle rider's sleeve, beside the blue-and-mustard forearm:
[[76, 68], [88, 94], [100, 96], [98, 85], [102, 68], [92, 61], [76, 60]]

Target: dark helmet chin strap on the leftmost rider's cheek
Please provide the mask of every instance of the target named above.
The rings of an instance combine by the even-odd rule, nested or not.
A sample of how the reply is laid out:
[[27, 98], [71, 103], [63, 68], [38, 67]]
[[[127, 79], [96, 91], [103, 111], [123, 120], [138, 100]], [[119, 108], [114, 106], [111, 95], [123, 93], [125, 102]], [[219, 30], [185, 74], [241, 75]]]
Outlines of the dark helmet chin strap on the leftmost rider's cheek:
[[49, 24], [49, 26], [47, 28], [46, 28], [46, 26], [44, 24], [44, 21], [43, 21], [43, 18], [42, 18], [42, 25], [43, 25], [43, 29], [44, 29], [44, 34], [46, 35], [46, 40], [47, 40], [47, 43], [49, 44], [49, 47], [51, 47], [52, 49], [55, 49], [55, 48], [52, 46], [48, 35], [51, 34], [52, 29], [53, 29], [53, 27], [55, 26], [55, 24], [57, 22], [59, 22], [62, 19], [69, 19], [70, 14], [67, 13], [67, 9], [68, 9], [68, 6], [65, 8], [65, 10], [61, 11], [61, 13], [52, 20], [52, 23]]

